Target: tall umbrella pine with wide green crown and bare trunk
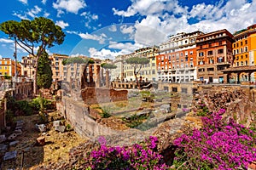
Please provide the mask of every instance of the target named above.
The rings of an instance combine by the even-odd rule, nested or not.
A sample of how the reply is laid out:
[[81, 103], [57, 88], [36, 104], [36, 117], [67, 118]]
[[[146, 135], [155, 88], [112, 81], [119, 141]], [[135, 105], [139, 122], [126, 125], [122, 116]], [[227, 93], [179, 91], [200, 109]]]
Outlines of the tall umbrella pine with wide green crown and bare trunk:
[[[21, 20], [20, 22], [15, 20], [5, 21], [0, 24], [0, 30], [14, 38], [20, 48], [23, 48], [35, 58], [34, 93], [37, 94], [38, 59], [44, 49], [51, 48], [55, 44], [60, 45], [66, 35], [60, 26], [55, 25], [54, 21], [44, 17], [34, 18], [34, 20]], [[36, 48], [38, 48], [37, 52], [35, 51]]]

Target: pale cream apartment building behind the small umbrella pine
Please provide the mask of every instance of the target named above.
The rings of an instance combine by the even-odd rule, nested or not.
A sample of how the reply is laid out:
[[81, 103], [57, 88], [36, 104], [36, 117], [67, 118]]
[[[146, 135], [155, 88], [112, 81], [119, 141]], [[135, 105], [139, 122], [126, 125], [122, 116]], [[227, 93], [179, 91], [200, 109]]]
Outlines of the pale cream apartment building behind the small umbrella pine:
[[[131, 54], [124, 55], [125, 59], [131, 57], [144, 57], [149, 59], [147, 65], [143, 65], [142, 69], [138, 72], [137, 77], [142, 77], [144, 81], [156, 81], [156, 62], [155, 56], [159, 54], [158, 47], [139, 48]], [[124, 80], [135, 81], [134, 70], [131, 65], [124, 62]]]

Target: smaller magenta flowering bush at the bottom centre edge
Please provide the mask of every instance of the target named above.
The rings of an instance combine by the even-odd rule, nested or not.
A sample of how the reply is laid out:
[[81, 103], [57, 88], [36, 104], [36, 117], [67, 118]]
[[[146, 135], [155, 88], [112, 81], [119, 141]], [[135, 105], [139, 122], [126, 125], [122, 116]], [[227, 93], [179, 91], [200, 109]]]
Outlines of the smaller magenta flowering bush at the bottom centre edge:
[[90, 169], [166, 169], [157, 153], [157, 139], [149, 137], [142, 144], [108, 147], [102, 144], [99, 150], [93, 150], [85, 158]]

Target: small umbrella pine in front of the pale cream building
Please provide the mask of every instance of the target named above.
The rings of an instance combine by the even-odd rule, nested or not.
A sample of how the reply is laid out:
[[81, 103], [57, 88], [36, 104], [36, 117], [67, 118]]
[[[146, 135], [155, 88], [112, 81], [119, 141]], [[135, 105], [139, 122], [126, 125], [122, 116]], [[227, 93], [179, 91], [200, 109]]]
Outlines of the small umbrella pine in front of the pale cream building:
[[149, 59], [147, 58], [142, 58], [142, 57], [131, 57], [129, 59], [125, 60], [127, 64], [130, 64], [132, 69], [133, 69], [133, 74], [136, 78], [137, 81], [137, 87], [140, 88], [140, 84], [137, 79], [137, 74], [141, 69], [143, 68], [143, 65], [148, 65]]

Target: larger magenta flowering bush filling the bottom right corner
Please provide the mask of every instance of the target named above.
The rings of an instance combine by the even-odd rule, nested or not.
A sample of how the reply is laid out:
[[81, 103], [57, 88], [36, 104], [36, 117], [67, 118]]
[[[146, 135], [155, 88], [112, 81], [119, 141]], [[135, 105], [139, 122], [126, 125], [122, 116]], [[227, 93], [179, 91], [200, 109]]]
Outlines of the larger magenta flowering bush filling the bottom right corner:
[[255, 132], [233, 119], [224, 122], [224, 109], [202, 117], [203, 127], [175, 139], [174, 165], [182, 169], [247, 169], [256, 160]]

